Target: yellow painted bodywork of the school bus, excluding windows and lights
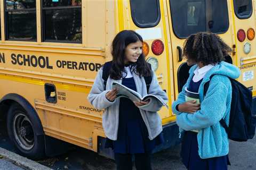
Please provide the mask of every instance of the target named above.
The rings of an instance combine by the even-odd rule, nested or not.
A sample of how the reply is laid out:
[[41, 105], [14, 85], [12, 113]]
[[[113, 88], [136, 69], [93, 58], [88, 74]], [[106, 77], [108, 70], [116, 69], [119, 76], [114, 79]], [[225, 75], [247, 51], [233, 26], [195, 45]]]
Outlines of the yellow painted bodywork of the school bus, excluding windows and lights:
[[[237, 40], [236, 32], [241, 28], [255, 30], [255, 10], [249, 19], [239, 20], [234, 14], [233, 1], [227, 2], [229, 27], [225, 33], [220, 34], [220, 37], [229, 46], [235, 46], [234, 53], [230, 57], [233, 64], [241, 68], [242, 74], [246, 71], [254, 72], [256, 68], [256, 50], [253, 48], [256, 45], [255, 39], [250, 41], [251, 52], [245, 55], [244, 42]], [[256, 2], [253, 1], [253, 6], [255, 5]], [[37, 40], [34, 42], [14, 41], [3, 38], [5, 37], [5, 22], [2, 16], [5, 13], [4, 4], [1, 1], [0, 98], [4, 99], [9, 94], [23, 97], [38, 114], [45, 135], [97, 152], [99, 151], [98, 137], [105, 138], [101, 123], [103, 110], [93, 108], [86, 98], [99, 67], [111, 60], [111, 40], [117, 32], [125, 29], [138, 32], [145, 30], [154, 32], [152, 29], [159, 29], [162, 36], [156, 39], [163, 41], [164, 52], [156, 56], [150, 49], [147, 58], [150, 56], [157, 58], [158, 82], [169, 97], [169, 109], [164, 107], [159, 112], [163, 125], [175, 124], [171, 104], [178, 96], [178, 69], [181, 63], [186, 61], [178, 61], [177, 46], [183, 47], [185, 39], [178, 38], [173, 32], [170, 2], [159, 1], [161, 19], [153, 28], [139, 28], [133, 23], [129, 1], [84, 0], [81, 8], [83, 32], [81, 44], [42, 41], [40, 1], [36, 1]], [[145, 39], [149, 46], [154, 40]], [[30, 61], [30, 66], [26, 61], [28, 56], [30, 58], [35, 56], [34, 61]], [[31, 63], [35, 60], [38, 62], [37, 66], [32, 66]], [[254, 64], [254, 66], [244, 67], [248, 64]], [[239, 81], [247, 87], [255, 88], [254, 79], [243, 81], [241, 76]], [[55, 86], [57, 103], [46, 101], [45, 84]], [[253, 96], [255, 96], [255, 90]], [[15, 100], [2, 100], [7, 105], [13, 101]], [[19, 103], [19, 101], [15, 102]], [[174, 140], [178, 138], [178, 131], [173, 131], [168, 135]]]

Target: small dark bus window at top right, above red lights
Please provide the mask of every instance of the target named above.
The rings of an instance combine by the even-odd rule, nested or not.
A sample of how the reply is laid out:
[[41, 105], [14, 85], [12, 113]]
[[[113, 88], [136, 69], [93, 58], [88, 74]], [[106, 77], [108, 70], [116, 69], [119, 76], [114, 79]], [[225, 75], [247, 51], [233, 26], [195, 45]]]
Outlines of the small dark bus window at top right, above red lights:
[[237, 18], [247, 19], [252, 15], [252, 1], [251, 0], [234, 0], [234, 10]]

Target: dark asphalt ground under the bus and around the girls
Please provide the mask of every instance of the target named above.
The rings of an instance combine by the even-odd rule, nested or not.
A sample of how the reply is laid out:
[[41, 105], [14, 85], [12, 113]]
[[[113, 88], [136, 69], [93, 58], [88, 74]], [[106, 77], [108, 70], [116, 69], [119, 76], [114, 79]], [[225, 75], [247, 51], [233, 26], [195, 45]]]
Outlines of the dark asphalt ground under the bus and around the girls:
[[[2, 131], [1, 131], [2, 130]], [[10, 141], [7, 134], [1, 128], [0, 122], [0, 147], [15, 152], [15, 149], [10, 145]], [[1, 155], [1, 148], [0, 148]], [[234, 142], [230, 141], [229, 158], [231, 166], [229, 170], [255, 170], [256, 161], [256, 138], [247, 142]], [[97, 153], [76, 147], [75, 149], [62, 154], [54, 158], [46, 158], [39, 160], [37, 163], [45, 165], [55, 170], [114, 170], [114, 160], [99, 156]], [[180, 145], [174, 148], [166, 149], [161, 152], [153, 154], [152, 165], [154, 170], [186, 170], [185, 166], [182, 165], [180, 159]], [[12, 169], [17, 166], [6, 159], [0, 159], [0, 169], [2, 167], [8, 167]], [[19, 169], [13, 168], [15, 170]], [[8, 170], [9, 170], [8, 169]], [[135, 168], [134, 168], [135, 169]], [[7, 170], [7, 169], [6, 169]], [[20, 170], [20, 169], [19, 169]], [[23, 169], [22, 169], [23, 170]]]

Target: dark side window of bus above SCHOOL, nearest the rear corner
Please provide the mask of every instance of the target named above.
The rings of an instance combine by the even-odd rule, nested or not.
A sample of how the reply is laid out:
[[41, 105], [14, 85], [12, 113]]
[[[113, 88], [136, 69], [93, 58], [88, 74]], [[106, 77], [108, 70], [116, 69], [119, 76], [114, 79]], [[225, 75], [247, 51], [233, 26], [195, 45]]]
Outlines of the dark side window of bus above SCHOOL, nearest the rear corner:
[[43, 0], [43, 41], [82, 43], [82, 0]]

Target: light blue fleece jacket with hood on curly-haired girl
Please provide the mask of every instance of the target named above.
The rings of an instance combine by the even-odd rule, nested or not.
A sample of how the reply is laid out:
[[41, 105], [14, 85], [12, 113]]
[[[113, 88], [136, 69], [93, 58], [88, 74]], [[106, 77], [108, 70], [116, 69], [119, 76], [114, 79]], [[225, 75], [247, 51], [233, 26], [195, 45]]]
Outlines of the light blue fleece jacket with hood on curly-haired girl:
[[[189, 78], [183, 86], [178, 99], [172, 104], [172, 111], [177, 115], [180, 132], [183, 130], [199, 130], [197, 134], [198, 154], [202, 159], [225, 156], [229, 152], [229, 140], [225, 129], [219, 121], [221, 118], [229, 124], [232, 87], [229, 78], [237, 79], [239, 69], [229, 63], [220, 62], [209, 70], [199, 86], [201, 109], [194, 114], [179, 112], [176, 106], [185, 102], [185, 87], [193, 78], [197, 65], [189, 70]], [[210, 80], [209, 89], [203, 96], [204, 84]]]

